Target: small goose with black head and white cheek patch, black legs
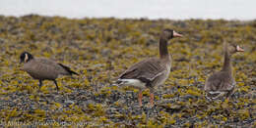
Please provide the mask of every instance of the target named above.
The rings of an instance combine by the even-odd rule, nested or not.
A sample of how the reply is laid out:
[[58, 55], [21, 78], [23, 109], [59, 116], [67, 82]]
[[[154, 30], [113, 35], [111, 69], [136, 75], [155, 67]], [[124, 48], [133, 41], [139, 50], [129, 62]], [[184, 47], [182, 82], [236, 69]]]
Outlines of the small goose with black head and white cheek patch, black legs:
[[59, 90], [57, 81], [55, 80], [58, 75], [78, 74], [64, 64], [58, 64], [45, 58], [34, 58], [29, 52], [22, 53], [20, 59], [21, 64], [24, 63], [22, 69], [27, 71], [32, 78], [39, 80], [39, 88], [42, 86], [43, 80], [52, 80], [57, 90]]

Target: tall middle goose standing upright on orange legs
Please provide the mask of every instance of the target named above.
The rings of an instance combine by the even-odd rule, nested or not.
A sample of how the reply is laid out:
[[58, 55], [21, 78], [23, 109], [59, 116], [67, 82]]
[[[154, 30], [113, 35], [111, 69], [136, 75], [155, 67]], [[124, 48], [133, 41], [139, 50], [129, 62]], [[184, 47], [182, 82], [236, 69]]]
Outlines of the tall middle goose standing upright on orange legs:
[[164, 29], [160, 34], [160, 58], [151, 58], [133, 64], [125, 70], [117, 80], [118, 85], [133, 86], [139, 89], [138, 101], [142, 106], [142, 90], [149, 88], [151, 106], [154, 106], [154, 87], [161, 85], [167, 79], [170, 71], [170, 56], [167, 41], [182, 35], [172, 29]]

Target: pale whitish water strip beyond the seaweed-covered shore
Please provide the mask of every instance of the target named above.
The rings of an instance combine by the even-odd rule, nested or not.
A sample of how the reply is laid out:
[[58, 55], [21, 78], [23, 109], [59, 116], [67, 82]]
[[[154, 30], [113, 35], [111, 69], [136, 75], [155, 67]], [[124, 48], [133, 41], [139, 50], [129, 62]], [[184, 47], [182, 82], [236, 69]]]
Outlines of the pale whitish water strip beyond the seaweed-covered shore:
[[67, 18], [256, 19], [256, 0], [0, 0], [0, 15]]

